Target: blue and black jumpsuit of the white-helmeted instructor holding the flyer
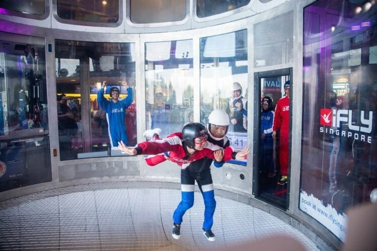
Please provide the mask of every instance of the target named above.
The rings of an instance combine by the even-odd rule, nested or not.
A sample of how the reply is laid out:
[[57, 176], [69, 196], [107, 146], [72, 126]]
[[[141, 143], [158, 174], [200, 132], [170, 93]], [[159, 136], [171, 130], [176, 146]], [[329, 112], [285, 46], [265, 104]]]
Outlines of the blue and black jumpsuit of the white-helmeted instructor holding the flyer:
[[[230, 145], [227, 137], [220, 141], [216, 141], [209, 137], [208, 141], [222, 148], [229, 147]], [[211, 229], [213, 224], [213, 214], [216, 208], [210, 169], [211, 164], [212, 159], [203, 158], [190, 163], [187, 168], [181, 170], [182, 201], [178, 204], [177, 209], [173, 213], [174, 223], [181, 224], [185, 212], [194, 205], [194, 185], [196, 180], [203, 196], [205, 206], [203, 230]], [[219, 163], [215, 161], [214, 165], [215, 167], [221, 167], [223, 162]]]

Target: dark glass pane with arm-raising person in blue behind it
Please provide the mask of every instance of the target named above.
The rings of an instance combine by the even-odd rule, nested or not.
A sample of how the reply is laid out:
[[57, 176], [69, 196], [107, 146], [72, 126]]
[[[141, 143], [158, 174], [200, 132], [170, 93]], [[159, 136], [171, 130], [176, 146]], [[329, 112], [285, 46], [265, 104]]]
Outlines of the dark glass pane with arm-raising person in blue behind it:
[[[135, 96], [127, 101], [127, 107], [115, 107], [129, 96], [125, 83], [135, 93], [134, 44], [56, 40], [55, 55], [60, 160], [114, 155], [111, 154], [114, 145], [110, 144], [110, 139], [120, 134], [125, 137], [122, 139], [128, 142], [128, 146], [134, 146]], [[102, 89], [103, 100], [114, 105], [114, 109], [101, 108], [99, 104], [97, 94], [104, 81], [107, 83]], [[114, 88], [119, 94], [117, 104], [110, 96], [110, 90]], [[89, 92], [84, 95], [82, 90], [85, 89]], [[81, 109], [83, 102], [89, 103], [88, 111]], [[120, 112], [116, 116], [120, 120], [116, 123], [109, 122], [113, 111]], [[112, 126], [124, 131], [115, 130]]]

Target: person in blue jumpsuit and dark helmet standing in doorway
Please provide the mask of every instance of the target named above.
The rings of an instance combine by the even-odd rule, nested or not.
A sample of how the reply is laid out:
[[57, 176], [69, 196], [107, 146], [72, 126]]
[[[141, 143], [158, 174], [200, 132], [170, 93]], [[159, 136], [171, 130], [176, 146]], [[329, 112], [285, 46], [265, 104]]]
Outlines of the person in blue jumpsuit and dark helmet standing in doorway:
[[268, 171], [267, 177], [271, 178], [276, 175], [273, 148], [274, 140], [272, 138], [272, 126], [274, 120], [274, 111], [272, 106], [272, 98], [265, 96], [262, 98], [261, 111], [261, 153], [260, 153], [260, 170]]

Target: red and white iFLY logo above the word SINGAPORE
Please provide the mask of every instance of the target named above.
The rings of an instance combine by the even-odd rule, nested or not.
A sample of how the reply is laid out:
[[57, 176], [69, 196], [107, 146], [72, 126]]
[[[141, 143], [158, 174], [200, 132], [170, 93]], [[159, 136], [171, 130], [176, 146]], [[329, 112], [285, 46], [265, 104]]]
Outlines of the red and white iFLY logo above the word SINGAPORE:
[[[355, 116], [354, 112], [344, 109], [337, 110], [336, 108], [321, 109], [320, 124], [340, 129], [340, 123], [343, 122], [343, 124], [348, 125], [349, 130], [370, 134], [372, 132], [373, 112], [360, 110], [358, 117]], [[352, 121], [352, 119], [355, 121]], [[359, 121], [358, 124], [356, 124], [356, 121]]]

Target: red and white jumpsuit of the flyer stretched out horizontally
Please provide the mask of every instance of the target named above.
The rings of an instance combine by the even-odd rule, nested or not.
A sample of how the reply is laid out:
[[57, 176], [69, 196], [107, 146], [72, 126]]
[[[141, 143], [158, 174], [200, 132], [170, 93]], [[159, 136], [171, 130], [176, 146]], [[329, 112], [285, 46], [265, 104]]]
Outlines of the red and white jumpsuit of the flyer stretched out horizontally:
[[[164, 138], [162, 140], [145, 141], [137, 144], [135, 150], [137, 154], [154, 155], [169, 152], [170, 161], [177, 163], [182, 169], [185, 169], [191, 162], [200, 160], [204, 157], [208, 157], [214, 160], [213, 151], [222, 149], [219, 146], [213, 145], [210, 142], [206, 142], [204, 149], [201, 151], [195, 151], [192, 155], [189, 155], [182, 145], [182, 134], [176, 133]], [[227, 147], [224, 149], [223, 161], [229, 161], [232, 159], [233, 149]], [[151, 156], [145, 158], [146, 163], [149, 166], [155, 166], [165, 161], [164, 155]]]

